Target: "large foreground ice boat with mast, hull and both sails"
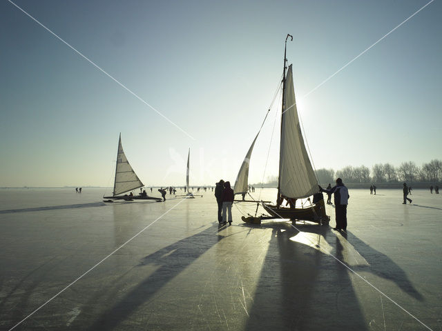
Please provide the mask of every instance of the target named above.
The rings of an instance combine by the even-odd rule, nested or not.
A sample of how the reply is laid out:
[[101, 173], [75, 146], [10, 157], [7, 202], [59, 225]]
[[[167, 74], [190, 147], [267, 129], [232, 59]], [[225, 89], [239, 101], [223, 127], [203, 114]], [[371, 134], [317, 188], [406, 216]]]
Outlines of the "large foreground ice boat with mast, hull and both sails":
[[[261, 223], [262, 219], [279, 218], [314, 221], [320, 224], [329, 223], [329, 217], [325, 214], [323, 194], [319, 192], [318, 180], [311, 166], [300, 130], [291, 65], [288, 69], [286, 66], [287, 39], [289, 37], [293, 40], [293, 37], [287, 34], [284, 49], [284, 69], [282, 72], [282, 118], [276, 205], [261, 201], [262, 207], [270, 215], [262, 217], [242, 217], [242, 221], [246, 223]], [[251, 148], [246, 155], [246, 160], [250, 158], [255, 141], [256, 138], [253, 140]], [[244, 162], [246, 162], [246, 160], [244, 160]], [[245, 177], [245, 179], [242, 179], [242, 184], [240, 184], [243, 188], [238, 188], [237, 190], [236, 184], [234, 192], [239, 193], [244, 190], [244, 188], [247, 188], [248, 172], [249, 162], [247, 161], [247, 167], [242, 166], [237, 177], [237, 183], [238, 179]], [[310, 200], [311, 196], [313, 196], [313, 201]], [[308, 198], [307, 201], [309, 201], [309, 205], [296, 208], [296, 200], [305, 198]], [[286, 201], [286, 205], [289, 205], [288, 207], [282, 205], [284, 201]]]

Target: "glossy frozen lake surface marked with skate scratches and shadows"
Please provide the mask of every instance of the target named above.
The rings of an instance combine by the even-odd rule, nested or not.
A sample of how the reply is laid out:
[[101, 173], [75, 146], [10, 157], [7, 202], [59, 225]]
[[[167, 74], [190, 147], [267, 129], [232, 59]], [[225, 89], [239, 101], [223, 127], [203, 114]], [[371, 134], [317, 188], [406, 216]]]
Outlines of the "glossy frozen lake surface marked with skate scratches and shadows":
[[349, 190], [341, 234], [104, 191], [0, 190], [0, 330], [442, 330], [442, 194]]

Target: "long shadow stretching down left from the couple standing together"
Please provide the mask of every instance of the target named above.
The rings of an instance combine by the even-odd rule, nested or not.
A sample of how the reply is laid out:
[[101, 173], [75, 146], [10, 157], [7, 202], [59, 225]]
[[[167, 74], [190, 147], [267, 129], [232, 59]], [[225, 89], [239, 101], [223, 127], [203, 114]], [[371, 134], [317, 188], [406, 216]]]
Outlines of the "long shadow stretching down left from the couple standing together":
[[[213, 225], [198, 234], [186, 237], [144, 257], [138, 267], [155, 265], [158, 267], [157, 270], [146, 279], [137, 283], [134, 288], [121, 297], [113, 306], [104, 312], [99, 312], [99, 317], [95, 319], [88, 330], [113, 330], [120, 323], [128, 320], [133, 312], [141, 305], [148, 303], [149, 299], [160, 291], [164, 285], [172, 281], [180, 272], [189, 267], [204, 252], [222, 239], [222, 237], [214, 235], [217, 229], [218, 226]], [[109, 300], [115, 298], [122, 287], [122, 284], [118, 281], [113, 283], [115, 284], [114, 288], [108, 291], [113, 293], [109, 296]], [[93, 306], [96, 300], [96, 297], [91, 299], [90, 306]]]

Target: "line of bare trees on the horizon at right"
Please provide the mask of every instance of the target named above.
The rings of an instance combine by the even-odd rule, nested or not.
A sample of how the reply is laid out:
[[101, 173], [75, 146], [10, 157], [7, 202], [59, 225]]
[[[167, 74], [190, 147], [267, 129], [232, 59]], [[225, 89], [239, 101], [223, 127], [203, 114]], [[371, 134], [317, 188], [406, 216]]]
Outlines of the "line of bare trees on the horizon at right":
[[320, 183], [334, 183], [340, 177], [345, 183], [398, 183], [405, 182], [428, 182], [437, 183], [442, 181], [442, 161], [432, 160], [423, 163], [421, 167], [413, 161], [403, 162], [398, 167], [390, 163], [376, 163], [370, 170], [365, 165], [360, 167], [347, 167], [334, 171], [333, 169], [316, 170]]

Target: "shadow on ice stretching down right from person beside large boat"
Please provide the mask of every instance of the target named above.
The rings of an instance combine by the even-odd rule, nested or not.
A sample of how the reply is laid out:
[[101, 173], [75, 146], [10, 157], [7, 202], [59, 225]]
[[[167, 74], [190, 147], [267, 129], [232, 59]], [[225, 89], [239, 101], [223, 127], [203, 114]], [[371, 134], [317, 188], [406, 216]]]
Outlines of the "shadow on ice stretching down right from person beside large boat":
[[[423, 301], [422, 294], [414, 288], [407, 274], [390, 257], [367, 245], [351, 232], [347, 232], [346, 240], [367, 261], [367, 265], [353, 265], [351, 268], [354, 271], [372, 272], [378, 277], [396, 283], [401, 290], [414, 297], [414, 299]], [[338, 257], [338, 247], [336, 248], [336, 257]], [[341, 261], [343, 260], [341, 259]]]

